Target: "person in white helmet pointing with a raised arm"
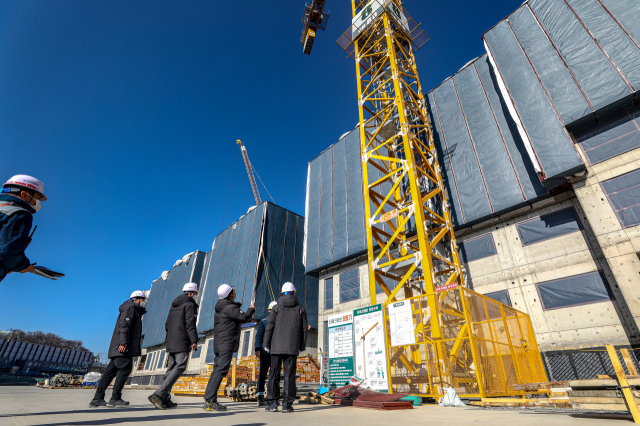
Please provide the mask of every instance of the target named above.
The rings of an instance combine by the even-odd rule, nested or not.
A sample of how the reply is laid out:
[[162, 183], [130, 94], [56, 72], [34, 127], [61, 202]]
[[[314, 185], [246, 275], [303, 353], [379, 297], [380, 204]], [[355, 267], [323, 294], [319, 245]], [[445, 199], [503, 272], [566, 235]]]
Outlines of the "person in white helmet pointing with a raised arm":
[[204, 392], [205, 411], [226, 411], [227, 407], [218, 403], [220, 383], [229, 372], [233, 353], [240, 347], [240, 326], [251, 319], [255, 307], [251, 305], [247, 312], [242, 312], [241, 303], [235, 302], [236, 291], [227, 284], [218, 287], [220, 300], [215, 306], [213, 317], [213, 353], [215, 365], [207, 389]]

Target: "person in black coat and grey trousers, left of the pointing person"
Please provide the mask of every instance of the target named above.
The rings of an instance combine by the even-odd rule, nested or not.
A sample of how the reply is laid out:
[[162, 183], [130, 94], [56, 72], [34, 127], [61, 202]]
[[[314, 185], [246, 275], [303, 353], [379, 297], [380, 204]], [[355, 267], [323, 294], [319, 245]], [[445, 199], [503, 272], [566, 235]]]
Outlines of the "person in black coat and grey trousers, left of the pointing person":
[[191, 351], [198, 349], [197, 297], [198, 285], [187, 283], [182, 287], [182, 294], [171, 303], [171, 309], [164, 326], [167, 330], [166, 351], [169, 356], [169, 369], [158, 390], [149, 396], [149, 401], [158, 410], [178, 406], [171, 401], [171, 388], [187, 369]]

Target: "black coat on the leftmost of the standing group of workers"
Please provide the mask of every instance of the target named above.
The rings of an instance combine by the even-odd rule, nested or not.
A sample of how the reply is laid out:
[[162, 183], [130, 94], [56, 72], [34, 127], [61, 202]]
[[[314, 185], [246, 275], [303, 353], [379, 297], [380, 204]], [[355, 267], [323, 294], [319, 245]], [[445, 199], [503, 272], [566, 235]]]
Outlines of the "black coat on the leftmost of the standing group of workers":
[[[140, 349], [142, 337], [142, 316], [147, 312], [145, 308], [131, 300], [127, 300], [120, 305], [120, 315], [116, 321], [116, 328], [113, 330], [111, 344], [109, 344], [109, 358], [119, 356], [135, 357], [142, 354]], [[118, 346], [127, 345], [124, 353], [118, 351]]]

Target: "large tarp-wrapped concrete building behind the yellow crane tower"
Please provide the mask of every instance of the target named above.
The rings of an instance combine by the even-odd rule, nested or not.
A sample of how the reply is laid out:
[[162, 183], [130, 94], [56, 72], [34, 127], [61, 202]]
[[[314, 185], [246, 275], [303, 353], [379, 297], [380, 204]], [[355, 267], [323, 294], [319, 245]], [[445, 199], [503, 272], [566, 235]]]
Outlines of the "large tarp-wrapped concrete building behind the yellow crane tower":
[[[466, 286], [528, 314], [549, 380], [607, 363], [575, 349], [640, 343], [638, 16], [631, 0], [530, 0], [426, 96]], [[323, 348], [330, 315], [372, 302], [361, 152], [356, 128], [309, 163]]]

